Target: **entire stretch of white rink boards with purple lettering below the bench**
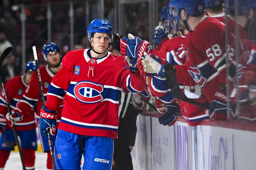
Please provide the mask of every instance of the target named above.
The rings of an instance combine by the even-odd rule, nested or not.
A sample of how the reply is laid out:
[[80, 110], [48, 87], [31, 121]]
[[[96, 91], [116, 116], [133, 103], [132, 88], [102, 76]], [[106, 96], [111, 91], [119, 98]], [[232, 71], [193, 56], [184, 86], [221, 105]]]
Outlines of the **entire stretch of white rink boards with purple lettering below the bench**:
[[155, 117], [138, 115], [131, 152], [134, 170], [254, 170], [255, 130], [207, 121], [196, 127], [177, 121], [168, 127]]

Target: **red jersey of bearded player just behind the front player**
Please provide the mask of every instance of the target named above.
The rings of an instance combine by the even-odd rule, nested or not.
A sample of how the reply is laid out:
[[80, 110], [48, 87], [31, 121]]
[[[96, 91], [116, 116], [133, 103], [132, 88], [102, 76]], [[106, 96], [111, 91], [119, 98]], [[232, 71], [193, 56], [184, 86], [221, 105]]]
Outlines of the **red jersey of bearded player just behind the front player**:
[[[51, 72], [51, 70], [49, 70], [49, 65], [42, 66], [39, 68], [39, 70], [43, 86], [44, 100], [46, 101], [46, 93], [48, 92], [48, 87], [52, 82], [54, 74]], [[37, 117], [40, 117], [42, 101], [40, 98], [39, 83], [36, 71], [32, 74], [32, 78], [28, 85], [28, 88], [23, 94], [21, 100], [18, 102], [17, 106], [24, 115], [27, 115], [31, 108], [36, 107], [36, 115]], [[60, 107], [56, 108], [56, 111], [58, 113], [57, 120], [60, 120], [62, 107], [63, 103], [60, 105]]]

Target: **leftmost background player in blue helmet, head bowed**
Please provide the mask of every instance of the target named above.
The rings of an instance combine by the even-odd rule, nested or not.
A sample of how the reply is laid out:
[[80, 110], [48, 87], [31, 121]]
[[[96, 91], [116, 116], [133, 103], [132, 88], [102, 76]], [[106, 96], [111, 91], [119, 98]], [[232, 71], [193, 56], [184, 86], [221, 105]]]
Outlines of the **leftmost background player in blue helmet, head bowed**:
[[[11, 105], [11, 109], [17, 109], [17, 102], [22, 98], [22, 94], [28, 87], [31, 81], [31, 75], [36, 70], [35, 62], [28, 62], [25, 66], [25, 74], [23, 76], [17, 76], [10, 79], [6, 84], [5, 88], [7, 96]], [[20, 117], [15, 122], [17, 134], [20, 138], [21, 152], [24, 158], [25, 167], [27, 170], [35, 169], [35, 151], [37, 150], [36, 143], [36, 121], [35, 121], [34, 109], [29, 110], [28, 116]], [[7, 120], [5, 119], [5, 115]], [[9, 158], [10, 152], [14, 150], [14, 146], [6, 146], [4, 140], [9, 143], [15, 143], [15, 137], [11, 127], [11, 121], [9, 121], [9, 113], [6, 106], [4, 97], [4, 91], [1, 92], [0, 96], [0, 169], [3, 170], [7, 159]], [[4, 139], [4, 137], [5, 139]]]

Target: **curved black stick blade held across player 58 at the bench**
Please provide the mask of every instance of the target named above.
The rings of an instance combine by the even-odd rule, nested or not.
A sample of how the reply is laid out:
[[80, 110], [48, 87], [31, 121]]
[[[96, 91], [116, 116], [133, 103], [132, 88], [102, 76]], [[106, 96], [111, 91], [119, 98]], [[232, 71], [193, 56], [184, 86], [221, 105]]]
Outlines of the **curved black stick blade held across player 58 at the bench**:
[[165, 71], [165, 78], [166, 81], [168, 83], [169, 88], [172, 91], [172, 94], [174, 95], [174, 97], [176, 97], [179, 100], [191, 103], [193, 105], [199, 106], [199, 107], [203, 107], [205, 109], [209, 109], [208, 105], [205, 105], [204, 103], [200, 103], [198, 101], [189, 99], [181, 90], [180, 90], [180, 86], [177, 82], [177, 79], [175, 77], [175, 69], [173, 68], [172, 64], [167, 64], [164, 67], [164, 71]]

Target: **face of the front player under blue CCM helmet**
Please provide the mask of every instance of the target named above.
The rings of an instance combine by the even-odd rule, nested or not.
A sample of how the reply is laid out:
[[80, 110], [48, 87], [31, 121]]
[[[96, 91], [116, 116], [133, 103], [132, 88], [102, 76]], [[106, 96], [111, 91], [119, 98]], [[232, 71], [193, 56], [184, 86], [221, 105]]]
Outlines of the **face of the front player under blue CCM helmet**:
[[92, 48], [99, 52], [103, 53], [108, 48], [110, 36], [107, 33], [94, 33], [92, 37]]

